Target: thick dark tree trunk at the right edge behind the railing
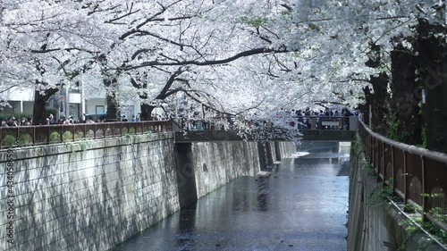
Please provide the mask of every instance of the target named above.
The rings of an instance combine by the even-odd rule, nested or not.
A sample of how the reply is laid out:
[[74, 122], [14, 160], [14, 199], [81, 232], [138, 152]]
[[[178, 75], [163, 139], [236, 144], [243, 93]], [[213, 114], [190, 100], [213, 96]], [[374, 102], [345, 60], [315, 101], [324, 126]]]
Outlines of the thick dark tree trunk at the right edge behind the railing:
[[447, 153], [447, 54], [445, 41], [431, 34], [446, 33], [441, 26], [427, 21], [418, 23], [417, 52], [419, 53], [420, 80], [426, 92], [424, 121], [426, 148]]

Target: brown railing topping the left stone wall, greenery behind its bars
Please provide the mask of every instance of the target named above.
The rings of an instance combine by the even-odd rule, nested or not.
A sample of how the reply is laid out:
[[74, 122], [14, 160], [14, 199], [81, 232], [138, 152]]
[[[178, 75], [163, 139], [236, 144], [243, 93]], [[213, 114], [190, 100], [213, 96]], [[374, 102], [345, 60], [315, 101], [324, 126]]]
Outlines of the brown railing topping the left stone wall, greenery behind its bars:
[[0, 128], [0, 149], [173, 130], [172, 121], [83, 123]]

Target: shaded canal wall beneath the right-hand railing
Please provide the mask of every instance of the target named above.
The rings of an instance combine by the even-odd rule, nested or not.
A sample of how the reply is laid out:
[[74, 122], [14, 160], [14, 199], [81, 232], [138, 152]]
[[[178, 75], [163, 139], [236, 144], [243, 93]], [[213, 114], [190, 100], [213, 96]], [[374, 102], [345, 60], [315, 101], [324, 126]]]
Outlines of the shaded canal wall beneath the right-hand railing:
[[370, 176], [359, 142], [350, 149], [348, 251], [446, 250], [403, 215], [399, 205], [382, 196], [384, 190]]

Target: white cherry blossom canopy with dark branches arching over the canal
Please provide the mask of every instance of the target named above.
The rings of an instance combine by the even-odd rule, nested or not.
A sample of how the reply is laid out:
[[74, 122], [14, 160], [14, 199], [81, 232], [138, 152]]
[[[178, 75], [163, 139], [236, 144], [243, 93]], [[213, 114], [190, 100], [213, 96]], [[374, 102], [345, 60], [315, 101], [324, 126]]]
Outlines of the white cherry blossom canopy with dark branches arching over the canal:
[[[421, 33], [421, 21], [445, 22], [443, 1], [22, 0], [2, 6], [1, 58], [8, 62], [0, 69], [7, 79], [2, 85], [27, 83], [37, 96], [50, 96], [87, 80], [105, 88], [111, 118], [118, 92], [138, 97], [145, 119], [153, 101], [176, 93], [240, 116], [297, 105], [357, 106], [366, 94], [390, 91], [384, 78], [392, 76], [390, 53], [399, 45], [417, 53], [405, 39]], [[443, 30], [436, 32], [445, 40]]]

